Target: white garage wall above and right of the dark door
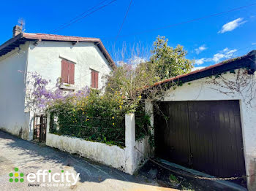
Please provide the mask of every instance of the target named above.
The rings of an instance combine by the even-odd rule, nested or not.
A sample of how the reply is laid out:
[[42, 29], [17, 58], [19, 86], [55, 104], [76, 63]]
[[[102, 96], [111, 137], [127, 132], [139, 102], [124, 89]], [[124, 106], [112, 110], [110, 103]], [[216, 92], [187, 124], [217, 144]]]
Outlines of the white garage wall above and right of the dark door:
[[[236, 73], [238, 70], [236, 70]], [[236, 74], [222, 74], [225, 79], [229, 81], [236, 82]], [[256, 74], [250, 76], [252, 81], [255, 82]], [[252, 81], [248, 81], [248, 85], [252, 85]], [[210, 82], [210, 83], [208, 83]], [[244, 156], [246, 162], [246, 174], [256, 173], [256, 98], [251, 101], [251, 105], [247, 102], [249, 101], [249, 88], [247, 87], [238, 93], [234, 91], [233, 94], [220, 93], [227, 92], [225, 87], [219, 85], [214, 85], [211, 83], [212, 79], [209, 77], [203, 79], [197, 79], [192, 82], [184, 83], [181, 87], [177, 87], [175, 90], [171, 88], [167, 90], [162, 101], [214, 101], [214, 100], [239, 100], [241, 109], [241, 125], [243, 132], [244, 141]], [[221, 82], [221, 81], [220, 81]], [[190, 85], [189, 85], [190, 84]], [[255, 93], [256, 86], [253, 87], [253, 92]], [[151, 110], [152, 106], [150, 102], [147, 102], [146, 110]], [[152, 112], [152, 111], [151, 111]], [[256, 189], [256, 178], [248, 179], [248, 186], [251, 190]]]

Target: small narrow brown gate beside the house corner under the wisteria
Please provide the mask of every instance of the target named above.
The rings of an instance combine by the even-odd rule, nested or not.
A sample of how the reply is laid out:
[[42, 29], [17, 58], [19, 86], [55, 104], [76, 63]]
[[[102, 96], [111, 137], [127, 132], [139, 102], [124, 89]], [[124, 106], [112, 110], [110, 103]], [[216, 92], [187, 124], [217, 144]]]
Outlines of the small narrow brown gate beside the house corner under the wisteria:
[[46, 141], [47, 116], [44, 114], [34, 115], [34, 135], [33, 140], [38, 142]]

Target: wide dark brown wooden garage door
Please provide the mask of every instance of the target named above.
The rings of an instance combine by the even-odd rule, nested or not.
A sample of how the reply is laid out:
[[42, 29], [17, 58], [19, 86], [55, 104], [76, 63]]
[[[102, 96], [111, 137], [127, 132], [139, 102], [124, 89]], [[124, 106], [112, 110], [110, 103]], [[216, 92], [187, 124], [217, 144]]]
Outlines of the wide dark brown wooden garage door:
[[154, 112], [158, 157], [214, 176], [245, 175], [238, 101], [157, 104], [161, 110]]

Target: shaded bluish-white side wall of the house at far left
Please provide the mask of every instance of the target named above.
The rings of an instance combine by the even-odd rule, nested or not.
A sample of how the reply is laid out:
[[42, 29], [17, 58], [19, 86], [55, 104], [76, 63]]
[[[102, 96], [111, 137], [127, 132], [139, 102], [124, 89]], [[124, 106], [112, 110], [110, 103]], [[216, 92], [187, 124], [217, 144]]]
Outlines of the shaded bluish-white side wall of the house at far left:
[[24, 74], [29, 44], [0, 57], [0, 128], [29, 139], [29, 112], [24, 112]]

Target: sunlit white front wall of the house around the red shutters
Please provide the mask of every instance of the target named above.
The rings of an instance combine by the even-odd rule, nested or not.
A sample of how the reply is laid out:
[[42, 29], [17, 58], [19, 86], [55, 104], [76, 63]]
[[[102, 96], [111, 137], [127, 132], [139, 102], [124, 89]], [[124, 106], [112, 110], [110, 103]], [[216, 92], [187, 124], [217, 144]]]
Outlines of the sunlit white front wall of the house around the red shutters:
[[103, 76], [112, 70], [105, 56], [92, 42], [33, 42], [29, 45], [28, 71], [37, 71], [45, 79], [50, 79], [49, 87], [55, 87], [61, 77], [61, 57], [75, 61], [75, 87], [91, 86], [91, 70], [99, 71], [99, 89], [105, 85]]

